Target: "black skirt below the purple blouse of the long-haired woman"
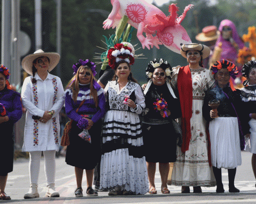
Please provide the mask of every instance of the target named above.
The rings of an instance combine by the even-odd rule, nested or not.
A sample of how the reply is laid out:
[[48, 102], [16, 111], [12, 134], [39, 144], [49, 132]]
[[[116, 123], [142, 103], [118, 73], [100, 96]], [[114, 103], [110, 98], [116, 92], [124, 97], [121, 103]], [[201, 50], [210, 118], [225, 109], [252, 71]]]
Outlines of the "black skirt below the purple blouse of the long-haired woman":
[[91, 143], [78, 136], [83, 130], [73, 121], [69, 132], [70, 145], [67, 147], [66, 163], [82, 169], [93, 169], [101, 158], [101, 128], [102, 122], [94, 123], [89, 130]]

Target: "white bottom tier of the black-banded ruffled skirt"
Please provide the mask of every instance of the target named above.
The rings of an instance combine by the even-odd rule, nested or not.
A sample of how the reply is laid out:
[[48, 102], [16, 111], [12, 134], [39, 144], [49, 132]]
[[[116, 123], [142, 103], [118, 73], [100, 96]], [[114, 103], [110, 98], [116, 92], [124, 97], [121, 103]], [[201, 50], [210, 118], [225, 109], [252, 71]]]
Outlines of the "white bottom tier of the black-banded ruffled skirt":
[[101, 156], [100, 189], [123, 190], [145, 194], [148, 192], [146, 158], [129, 156], [128, 149], [117, 149]]

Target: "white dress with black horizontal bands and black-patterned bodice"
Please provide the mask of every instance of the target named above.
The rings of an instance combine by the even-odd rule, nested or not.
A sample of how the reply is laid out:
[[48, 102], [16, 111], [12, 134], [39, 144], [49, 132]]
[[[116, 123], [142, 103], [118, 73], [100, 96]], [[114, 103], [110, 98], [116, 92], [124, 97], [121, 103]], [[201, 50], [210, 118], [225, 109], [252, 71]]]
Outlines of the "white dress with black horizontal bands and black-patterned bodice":
[[[102, 129], [102, 156], [100, 165], [100, 189], [122, 190], [145, 194], [148, 192], [146, 158], [140, 147], [143, 146], [139, 119], [145, 108], [145, 97], [139, 84], [128, 82], [119, 90], [118, 83], [108, 82], [110, 109], [107, 111]], [[123, 101], [125, 96], [132, 99], [137, 107], [129, 108]]]

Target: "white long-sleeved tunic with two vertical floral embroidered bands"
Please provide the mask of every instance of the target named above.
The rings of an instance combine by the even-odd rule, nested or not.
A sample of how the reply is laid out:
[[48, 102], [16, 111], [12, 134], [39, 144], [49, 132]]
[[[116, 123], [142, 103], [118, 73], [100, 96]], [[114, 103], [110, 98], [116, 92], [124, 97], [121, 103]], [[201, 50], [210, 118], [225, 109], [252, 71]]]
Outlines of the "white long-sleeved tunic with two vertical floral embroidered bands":
[[[22, 151], [57, 150], [60, 144], [59, 112], [64, 104], [64, 90], [59, 77], [50, 73], [43, 81], [35, 74], [27, 77], [21, 90], [22, 104], [27, 108], [24, 142]], [[32, 119], [32, 116], [43, 117], [45, 111], [55, 111], [47, 123]]]

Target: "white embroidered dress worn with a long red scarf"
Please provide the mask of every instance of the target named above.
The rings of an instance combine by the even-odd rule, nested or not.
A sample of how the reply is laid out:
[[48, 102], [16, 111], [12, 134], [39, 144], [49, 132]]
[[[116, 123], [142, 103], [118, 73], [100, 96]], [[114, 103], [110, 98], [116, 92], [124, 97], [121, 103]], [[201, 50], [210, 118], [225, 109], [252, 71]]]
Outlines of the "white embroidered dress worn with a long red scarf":
[[[179, 67], [174, 68], [172, 85], [177, 87]], [[184, 186], [214, 186], [215, 179], [209, 166], [207, 152], [206, 122], [202, 107], [205, 91], [213, 86], [214, 79], [209, 70], [192, 70], [193, 103], [190, 119], [191, 139], [189, 149], [183, 153], [177, 146], [177, 161], [174, 163], [171, 184]]]

